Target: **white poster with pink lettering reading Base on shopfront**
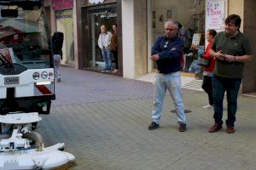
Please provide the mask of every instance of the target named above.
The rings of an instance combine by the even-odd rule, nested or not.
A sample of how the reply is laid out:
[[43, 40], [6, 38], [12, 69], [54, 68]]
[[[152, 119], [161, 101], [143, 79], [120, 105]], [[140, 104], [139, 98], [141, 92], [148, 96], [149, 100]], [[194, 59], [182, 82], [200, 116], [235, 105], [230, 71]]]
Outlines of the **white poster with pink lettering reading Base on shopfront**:
[[206, 2], [206, 28], [224, 31], [226, 17], [226, 0], [207, 0]]

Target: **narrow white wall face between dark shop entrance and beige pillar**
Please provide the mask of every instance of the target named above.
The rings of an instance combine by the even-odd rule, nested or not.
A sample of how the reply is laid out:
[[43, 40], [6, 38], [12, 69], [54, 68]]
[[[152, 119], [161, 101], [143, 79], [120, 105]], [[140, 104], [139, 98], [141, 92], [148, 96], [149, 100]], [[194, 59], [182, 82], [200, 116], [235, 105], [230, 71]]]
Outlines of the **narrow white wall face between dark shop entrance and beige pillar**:
[[122, 0], [123, 77], [135, 78], [134, 0]]

